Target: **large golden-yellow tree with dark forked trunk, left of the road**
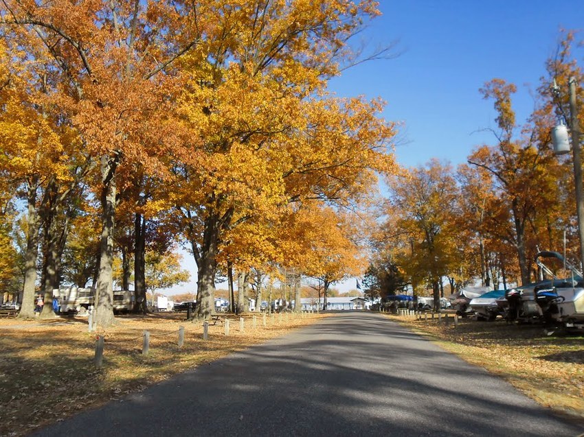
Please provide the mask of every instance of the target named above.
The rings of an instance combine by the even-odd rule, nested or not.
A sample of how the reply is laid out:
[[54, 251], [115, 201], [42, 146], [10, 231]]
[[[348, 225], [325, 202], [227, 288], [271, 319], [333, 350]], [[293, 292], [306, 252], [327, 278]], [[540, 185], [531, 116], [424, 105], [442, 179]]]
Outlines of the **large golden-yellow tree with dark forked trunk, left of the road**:
[[289, 202], [355, 198], [374, 170], [392, 168], [381, 104], [325, 91], [347, 40], [377, 13], [371, 1], [222, 5], [216, 39], [183, 58], [191, 80], [177, 112], [194, 152], [174, 167], [173, 196], [199, 272], [199, 316], [213, 309], [227, 231], [276, 220]]

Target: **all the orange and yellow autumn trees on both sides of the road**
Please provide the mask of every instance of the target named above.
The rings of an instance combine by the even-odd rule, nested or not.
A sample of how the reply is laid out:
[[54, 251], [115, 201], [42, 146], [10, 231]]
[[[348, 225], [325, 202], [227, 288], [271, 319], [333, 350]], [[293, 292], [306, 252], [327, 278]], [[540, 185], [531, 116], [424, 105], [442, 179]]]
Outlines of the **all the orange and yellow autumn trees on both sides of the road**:
[[234, 272], [242, 290], [282, 279], [298, 302], [301, 276], [326, 294], [369, 264], [370, 296], [431, 289], [437, 303], [445, 278], [451, 292], [529, 282], [564, 231], [579, 259], [571, 158], [550, 138], [569, 112], [552, 81], [583, 80], [574, 34], [526, 123], [515, 85], [493, 79], [480, 89], [493, 143], [456, 170], [400, 169], [383, 102], [327, 88], [363, 60], [351, 41], [378, 14], [372, 0], [3, 0], [0, 284], [22, 291], [20, 316], [39, 284], [49, 302], [61, 282], [91, 282], [109, 326], [114, 278], [127, 290], [131, 275], [146, 311], [146, 265], [175, 263], [179, 245], [196, 261], [201, 317]]

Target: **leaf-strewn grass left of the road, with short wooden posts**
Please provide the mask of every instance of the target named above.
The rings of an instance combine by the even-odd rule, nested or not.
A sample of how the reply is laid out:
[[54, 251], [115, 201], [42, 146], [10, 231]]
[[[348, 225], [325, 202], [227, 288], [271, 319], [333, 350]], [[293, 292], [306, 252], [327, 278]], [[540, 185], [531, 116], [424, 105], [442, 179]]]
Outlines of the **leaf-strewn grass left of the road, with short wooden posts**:
[[[23, 436], [36, 428], [63, 421], [80, 410], [95, 408], [172, 375], [265, 342], [315, 322], [322, 314], [276, 314], [252, 327], [253, 315], [231, 316], [229, 336], [220, 324], [209, 327], [203, 340], [201, 322], [186, 322], [185, 314], [120, 316], [117, 325], [89, 333], [87, 318], [50, 321], [0, 319], [0, 436]], [[185, 328], [181, 349], [179, 327]], [[147, 356], [142, 355], [144, 330], [150, 332]], [[104, 335], [104, 361], [93, 363], [96, 335]]]

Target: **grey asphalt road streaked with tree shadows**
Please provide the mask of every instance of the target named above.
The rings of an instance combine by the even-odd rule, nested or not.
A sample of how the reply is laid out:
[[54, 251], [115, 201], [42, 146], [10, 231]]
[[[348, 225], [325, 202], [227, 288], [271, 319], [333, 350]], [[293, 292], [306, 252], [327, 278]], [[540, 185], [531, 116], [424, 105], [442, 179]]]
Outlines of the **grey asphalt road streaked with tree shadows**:
[[343, 313], [38, 436], [576, 436], [379, 314]]

